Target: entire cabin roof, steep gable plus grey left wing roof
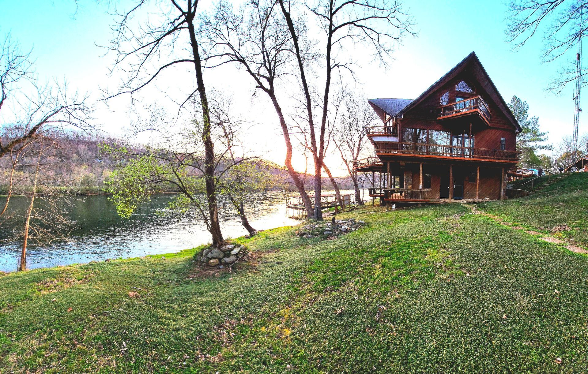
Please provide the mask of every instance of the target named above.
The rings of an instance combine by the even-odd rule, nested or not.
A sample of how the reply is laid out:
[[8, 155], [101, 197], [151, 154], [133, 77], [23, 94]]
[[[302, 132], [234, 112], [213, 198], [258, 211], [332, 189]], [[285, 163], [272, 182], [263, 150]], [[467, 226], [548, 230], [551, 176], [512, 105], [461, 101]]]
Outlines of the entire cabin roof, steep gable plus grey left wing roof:
[[[412, 102], [408, 102], [407, 99], [402, 99], [403, 102], [396, 102], [399, 99], [372, 99], [369, 100], [369, 103], [370, 105], [372, 105], [372, 108], [374, 109], [376, 109], [377, 106], [377, 108], [379, 108], [379, 111], [386, 112], [388, 115], [395, 118], [402, 118], [402, 116], [408, 111], [410, 111], [410, 109], [415, 108], [415, 106], [419, 105], [419, 103], [425, 100], [427, 96], [432, 95], [435, 91], [437, 91], [437, 89], [440, 89], [443, 85], [451, 81], [453, 78], [455, 78], [458, 74], [465, 71], [466, 69], [472, 72], [472, 74], [475, 76], [479, 84], [482, 85], [482, 88], [488, 94], [489, 98], [492, 99], [492, 101], [496, 104], [496, 106], [498, 106], [500, 111], [504, 113], [506, 118], [516, 128], [516, 132], [520, 132], [521, 128], [519, 122], [517, 122], [515, 116], [510, 111], [509, 106], [505, 102], [505, 99], [503, 99], [502, 95], [500, 95], [500, 92], [498, 92], [498, 89], [492, 82], [492, 79], [490, 79], [490, 76], [486, 72], [486, 69], [484, 69], [484, 66], [482, 66], [482, 63], [477, 58], [475, 52], [472, 52], [469, 55], [467, 55], [465, 59], [459, 62], [459, 64], [455, 65], [453, 69], [451, 69], [449, 72], [443, 75], [437, 82], [435, 82], [433, 85], [427, 88], [425, 92], [420, 94], [419, 97], [417, 97]], [[401, 104], [404, 104], [402, 105], [402, 109], [397, 111], [393, 110], [392, 112], [395, 113], [386, 110], [389, 108], [397, 108], [397, 106], [400, 106]], [[379, 111], [376, 109], [376, 112]], [[380, 115], [380, 113], [378, 114]], [[382, 117], [382, 115], [380, 115], [380, 117]]]

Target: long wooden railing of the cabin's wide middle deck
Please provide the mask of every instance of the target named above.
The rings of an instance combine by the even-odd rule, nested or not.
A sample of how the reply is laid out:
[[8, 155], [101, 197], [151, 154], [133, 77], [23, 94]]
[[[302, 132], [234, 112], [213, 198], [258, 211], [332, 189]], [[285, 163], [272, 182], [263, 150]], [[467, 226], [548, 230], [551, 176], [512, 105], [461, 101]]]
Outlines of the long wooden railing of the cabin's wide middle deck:
[[441, 144], [390, 142], [387, 144], [378, 145], [376, 148], [376, 153], [397, 153], [405, 155], [432, 155], [467, 159], [477, 158], [518, 161], [520, 152]]

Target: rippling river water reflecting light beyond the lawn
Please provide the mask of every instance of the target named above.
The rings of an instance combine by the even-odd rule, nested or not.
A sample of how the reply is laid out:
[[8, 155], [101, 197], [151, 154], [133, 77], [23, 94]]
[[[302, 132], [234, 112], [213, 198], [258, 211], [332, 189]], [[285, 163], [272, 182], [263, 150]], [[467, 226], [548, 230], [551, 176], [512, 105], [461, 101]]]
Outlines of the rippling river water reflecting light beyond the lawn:
[[[245, 209], [253, 228], [262, 230], [299, 223], [286, 215], [285, 196], [285, 192], [252, 193], [248, 196]], [[163, 216], [156, 215], [156, 211], [165, 209], [173, 197], [152, 196], [151, 201], [141, 206], [129, 219], [116, 214], [107, 196], [75, 198], [74, 205], [69, 208], [69, 218], [76, 221], [69, 242], [53, 243], [42, 248], [29, 246], [27, 267], [35, 269], [178, 252], [211, 242], [210, 234], [195, 212], [168, 211]], [[25, 209], [27, 203], [25, 198], [12, 198], [9, 211]], [[225, 239], [247, 233], [233, 209], [221, 209], [220, 220]], [[14, 229], [6, 223], [0, 226], [0, 239], [4, 239], [0, 241], [0, 271], [14, 271], [20, 258], [21, 242], [6, 241], [6, 238], [11, 238]]]

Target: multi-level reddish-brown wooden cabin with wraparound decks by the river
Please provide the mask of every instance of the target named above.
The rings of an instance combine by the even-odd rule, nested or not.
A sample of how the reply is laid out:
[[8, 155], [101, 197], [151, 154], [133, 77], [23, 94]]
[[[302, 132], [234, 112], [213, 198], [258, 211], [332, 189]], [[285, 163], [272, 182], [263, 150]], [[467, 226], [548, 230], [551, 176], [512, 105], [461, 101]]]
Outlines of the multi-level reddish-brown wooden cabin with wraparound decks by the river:
[[[370, 99], [382, 125], [366, 127], [375, 156], [372, 198], [385, 203], [503, 199], [516, 166], [519, 123], [472, 52], [416, 99]], [[376, 176], [378, 173], [379, 177]]]

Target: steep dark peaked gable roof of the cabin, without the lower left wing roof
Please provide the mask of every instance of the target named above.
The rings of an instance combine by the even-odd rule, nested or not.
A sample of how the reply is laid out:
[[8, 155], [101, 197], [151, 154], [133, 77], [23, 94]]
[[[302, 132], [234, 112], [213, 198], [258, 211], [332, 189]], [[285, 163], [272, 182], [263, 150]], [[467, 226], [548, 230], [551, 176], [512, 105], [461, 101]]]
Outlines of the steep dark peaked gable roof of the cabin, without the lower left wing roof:
[[[406, 105], [404, 108], [400, 109], [395, 115], [396, 118], [402, 118], [402, 116], [410, 111], [410, 109], [415, 108], [420, 102], [422, 102], [427, 96], [433, 94], [437, 89], [441, 88], [447, 82], [455, 78], [458, 74], [469, 69], [472, 74], [475, 76], [477, 81], [482, 85], [482, 88], [486, 91], [490, 99], [496, 103], [496, 106], [504, 113], [506, 118], [512, 123], [513, 126], [516, 128], [516, 132], [520, 132], [522, 129], [520, 128], [519, 122], [517, 122], [515, 116], [510, 111], [509, 106], [506, 104], [505, 99], [502, 98], [500, 92], [490, 79], [490, 76], [482, 66], [482, 63], [477, 58], [475, 52], [470, 53], [467, 55], [465, 59], [463, 59], [459, 64], [455, 65], [453, 69], [443, 75], [437, 82], [435, 82], [432, 86], [427, 88], [425, 92], [419, 95], [415, 100], [411, 103]], [[372, 105], [373, 106], [373, 105]]]

